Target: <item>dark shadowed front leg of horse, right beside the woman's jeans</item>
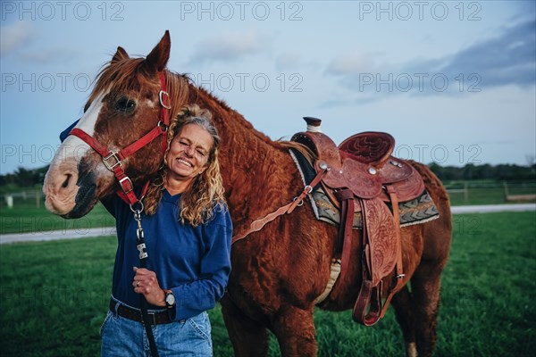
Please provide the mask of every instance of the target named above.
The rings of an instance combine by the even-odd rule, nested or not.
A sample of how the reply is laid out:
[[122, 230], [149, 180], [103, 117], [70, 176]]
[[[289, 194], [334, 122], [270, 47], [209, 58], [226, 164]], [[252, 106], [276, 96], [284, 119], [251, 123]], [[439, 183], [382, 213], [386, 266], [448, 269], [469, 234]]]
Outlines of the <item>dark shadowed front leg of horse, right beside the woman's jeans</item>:
[[237, 357], [256, 357], [268, 354], [266, 327], [247, 317], [229, 296], [222, 298], [222, 315], [230, 342]]

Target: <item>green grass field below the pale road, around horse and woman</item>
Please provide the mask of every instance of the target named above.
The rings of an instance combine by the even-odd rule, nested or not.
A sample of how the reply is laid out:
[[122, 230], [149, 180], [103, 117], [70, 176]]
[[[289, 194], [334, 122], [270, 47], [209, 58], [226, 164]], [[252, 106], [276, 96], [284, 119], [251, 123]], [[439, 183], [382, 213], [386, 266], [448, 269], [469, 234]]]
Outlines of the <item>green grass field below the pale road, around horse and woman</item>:
[[[536, 353], [536, 213], [459, 215], [443, 275], [437, 356]], [[97, 356], [116, 242], [113, 237], [0, 245], [0, 355]], [[214, 356], [232, 349], [219, 306]], [[350, 311], [315, 311], [320, 356], [403, 355], [388, 311], [372, 328]], [[279, 355], [272, 338], [270, 355]]]

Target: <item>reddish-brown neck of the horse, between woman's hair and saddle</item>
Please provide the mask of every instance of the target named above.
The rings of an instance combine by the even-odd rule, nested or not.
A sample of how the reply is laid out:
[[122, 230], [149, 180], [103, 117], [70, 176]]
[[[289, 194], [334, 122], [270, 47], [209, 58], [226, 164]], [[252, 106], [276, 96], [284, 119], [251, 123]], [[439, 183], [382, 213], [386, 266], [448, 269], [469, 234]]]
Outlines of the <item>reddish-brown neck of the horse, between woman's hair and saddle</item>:
[[[213, 114], [214, 125], [222, 137], [220, 168], [231, 210], [243, 211], [239, 214], [245, 220], [248, 216], [255, 219], [265, 214], [270, 203], [278, 205], [289, 199], [281, 195], [281, 190], [296, 190], [292, 187], [296, 178], [289, 173], [293, 163], [284, 145], [254, 129], [239, 112], [204, 89], [195, 88], [188, 103], [197, 103]], [[255, 204], [260, 199], [266, 203]], [[247, 209], [241, 210], [245, 205]]]

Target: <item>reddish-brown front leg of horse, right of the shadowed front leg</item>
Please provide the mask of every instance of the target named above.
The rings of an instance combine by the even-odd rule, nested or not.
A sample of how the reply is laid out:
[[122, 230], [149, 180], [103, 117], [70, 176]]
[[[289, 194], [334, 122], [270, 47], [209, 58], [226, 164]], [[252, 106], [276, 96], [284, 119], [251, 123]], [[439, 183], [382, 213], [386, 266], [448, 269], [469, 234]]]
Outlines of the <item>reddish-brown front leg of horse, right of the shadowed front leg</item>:
[[272, 323], [282, 357], [316, 356], [313, 310], [281, 308]]

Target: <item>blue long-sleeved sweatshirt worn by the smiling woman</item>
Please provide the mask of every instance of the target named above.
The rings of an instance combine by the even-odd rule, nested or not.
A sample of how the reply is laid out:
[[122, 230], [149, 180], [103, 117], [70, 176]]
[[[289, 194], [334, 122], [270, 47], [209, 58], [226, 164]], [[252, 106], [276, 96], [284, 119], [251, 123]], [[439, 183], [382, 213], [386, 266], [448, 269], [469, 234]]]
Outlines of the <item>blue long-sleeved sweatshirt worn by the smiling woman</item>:
[[[134, 292], [133, 267], [139, 267], [136, 249], [138, 228], [129, 205], [117, 195], [103, 200], [116, 220], [118, 247], [113, 267], [113, 296], [122, 303], [140, 307]], [[214, 308], [222, 298], [230, 274], [232, 223], [224, 205], [214, 207], [213, 217], [196, 228], [182, 224], [179, 217], [180, 195], [163, 190], [156, 213], [142, 213], [147, 246], [147, 269], [156, 273], [158, 284], [175, 295], [174, 320], [188, 319]], [[149, 306], [149, 309], [162, 309]]]

